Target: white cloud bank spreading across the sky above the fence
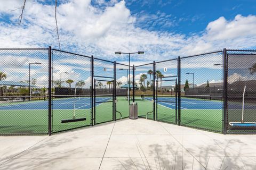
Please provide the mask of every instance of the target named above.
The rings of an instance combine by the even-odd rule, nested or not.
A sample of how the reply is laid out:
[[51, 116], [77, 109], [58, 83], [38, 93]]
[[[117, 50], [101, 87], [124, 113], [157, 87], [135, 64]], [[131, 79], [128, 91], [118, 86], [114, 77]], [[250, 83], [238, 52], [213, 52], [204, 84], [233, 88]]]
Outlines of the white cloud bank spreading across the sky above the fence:
[[[97, 1], [102, 4], [103, 1]], [[58, 24], [62, 49], [84, 55], [94, 55], [109, 60], [127, 61], [126, 55], [115, 51], [145, 51], [133, 55], [132, 64], [167, 60], [177, 56], [198, 54], [222, 48], [252, 48], [256, 41], [256, 16], [237, 15], [234, 20], [223, 17], [210, 22], [205, 30], [186, 36], [175, 32], [149, 31], [137, 27], [137, 14], [132, 15], [124, 1], [111, 1], [104, 7], [93, 6], [90, 0], [61, 1], [58, 6]], [[20, 1], [1, 1], [1, 14], [11, 15], [17, 23], [22, 6]], [[157, 17], [165, 22], [166, 15]], [[143, 16], [141, 16], [143, 19]], [[147, 19], [147, 16], [145, 16]], [[172, 23], [172, 21], [168, 22]], [[27, 1], [21, 25], [0, 23], [0, 46], [58, 48], [55, 32], [54, 3], [45, 5]], [[201, 63], [201, 65], [203, 65]]]

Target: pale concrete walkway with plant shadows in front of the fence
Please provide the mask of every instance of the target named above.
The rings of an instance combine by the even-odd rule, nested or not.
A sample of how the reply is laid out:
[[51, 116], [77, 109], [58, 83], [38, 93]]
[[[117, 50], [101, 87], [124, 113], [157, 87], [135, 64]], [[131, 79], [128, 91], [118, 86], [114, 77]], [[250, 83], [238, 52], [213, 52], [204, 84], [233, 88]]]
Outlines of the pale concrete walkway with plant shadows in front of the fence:
[[125, 119], [49, 136], [0, 137], [0, 169], [256, 169], [256, 135]]

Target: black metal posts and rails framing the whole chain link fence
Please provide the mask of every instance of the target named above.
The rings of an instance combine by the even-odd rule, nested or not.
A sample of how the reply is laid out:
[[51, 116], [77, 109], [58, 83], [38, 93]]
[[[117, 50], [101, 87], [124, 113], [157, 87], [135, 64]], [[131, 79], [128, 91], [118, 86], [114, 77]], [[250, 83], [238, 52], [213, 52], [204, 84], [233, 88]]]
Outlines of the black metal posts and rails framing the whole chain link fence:
[[[9, 50], [10, 48], [0, 48], [0, 50]], [[49, 78], [48, 78], [48, 91], [49, 94], [48, 96], [44, 96], [44, 97], [48, 97], [48, 134], [51, 135], [53, 132], [53, 108], [52, 108], [52, 98], [54, 97], [54, 95], [52, 94], [52, 52], [53, 50], [58, 51], [58, 52], [65, 52], [62, 50], [58, 50], [58, 49], [53, 49], [51, 48], [51, 46], [49, 46], [49, 48], [12, 48], [13, 50], [48, 50], [48, 66], [49, 66], [49, 70], [48, 70], [48, 74], [49, 74]], [[126, 64], [121, 64], [121, 63], [116, 63], [116, 62], [112, 62], [112, 61], [108, 61], [108, 60], [103, 60], [100, 58], [94, 58], [93, 56], [89, 57], [89, 56], [85, 56], [85, 55], [81, 55], [81, 54], [75, 54], [75, 53], [70, 53], [70, 52], [65, 52], [68, 54], [74, 54], [77, 56], [81, 56], [81, 57], [87, 57], [91, 59], [91, 122], [90, 125], [94, 126], [95, 125], [95, 116], [96, 116], [96, 103], [99, 103], [98, 101], [96, 101], [96, 91], [95, 91], [95, 81], [97, 81], [98, 79], [96, 78], [103, 78], [103, 79], [111, 79], [111, 81], [114, 83], [113, 86], [113, 94], [111, 94], [110, 96], [113, 96], [113, 100], [112, 101], [106, 101], [107, 102], [112, 102], [113, 103], [113, 121], [116, 121], [116, 102], [117, 102], [117, 90], [116, 90], [116, 64], [121, 64], [124, 66], [129, 66], [129, 69], [132, 68], [133, 69], [133, 99], [132, 101], [134, 102], [134, 98], [135, 98], [135, 91], [134, 91], [134, 77], [135, 77], [135, 68], [139, 67], [139, 66], [146, 66], [146, 65], [153, 65], [153, 117], [154, 120], [156, 121], [158, 119], [157, 116], [157, 84], [156, 82], [158, 82], [159, 80], [155, 77], [155, 72], [156, 72], [156, 64], [157, 63], [163, 63], [163, 62], [168, 62], [168, 61], [175, 61], [177, 60], [177, 75], [175, 76], [168, 76], [168, 77], [164, 77], [165, 80], [161, 80], [161, 81], [176, 81], [175, 84], [177, 84], [177, 90], [175, 91], [175, 96], [177, 97], [177, 102], [176, 102], [176, 113], [175, 113], [175, 121], [177, 125], [181, 125], [181, 59], [183, 58], [189, 58], [189, 57], [196, 57], [196, 56], [202, 56], [202, 55], [209, 55], [209, 54], [214, 54], [214, 53], [222, 53], [222, 80], [223, 80], [223, 86], [222, 86], [222, 99], [223, 99], [223, 120], [222, 120], [222, 132], [223, 134], [227, 134], [227, 124], [228, 124], [228, 104], [227, 104], [227, 86], [228, 86], [228, 51], [230, 52], [256, 52], [255, 50], [239, 50], [239, 49], [226, 49], [224, 48], [223, 50], [218, 50], [215, 52], [210, 52], [210, 53], [203, 53], [203, 54], [198, 54], [198, 55], [191, 55], [191, 56], [185, 56], [185, 57], [180, 57], [178, 56], [177, 58], [173, 58], [171, 60], [165, 60], [165, 61], [160, 61], [160, 62], [153, 62], [153, 63], [147, 63], [147, 64], [142, 64], [142, 65], [138, 65], [138, 66], [129, 66]], [[234, 53], [235, 54], [235, 53]], [[94, 59], [97, 59], [99, 61], [104, 61], [104, 62], [109, 62], [109, 63], [113, 63], [114, 64], [114, 77], [103, 77], [101, 75], [94, 75]], [[170, 78], [170, 79], [167, 79]], [[176, 79], [171, 79], [171, 78], [176, 78]], [[98, 81], [110, 81], [110, 80], [98, 80]], [[130, 89], [129, 89], [130, 91]], [[152, 96], [152, 95], [150, 95]], [[25, 96], [26, 97], [26, 96]], [[43, 96], [42, 96], [43, 97]], [[130, 97], [129, 97], [130, 99]], [[105, 102], [100, 102], [100, 103], [105, 103]], [[102, 122], [104, 123], [104, 122]], [[81, 127], [80, 127], [81, 128]], [[197, 129], [203, 129], [203, 130], [209, 130], [209, 129], [204, 129], [204, 128], [197, 128]], [[68, 129], [69, 130], [69, 129]], [[2, 135], [2, 134], [1, 134]]]

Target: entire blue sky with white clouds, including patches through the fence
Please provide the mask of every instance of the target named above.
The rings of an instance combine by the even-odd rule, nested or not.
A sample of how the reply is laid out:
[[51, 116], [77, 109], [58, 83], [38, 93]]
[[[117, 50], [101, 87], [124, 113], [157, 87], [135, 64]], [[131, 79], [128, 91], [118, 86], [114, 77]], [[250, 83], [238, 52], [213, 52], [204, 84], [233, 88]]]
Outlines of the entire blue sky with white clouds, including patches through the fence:
[[[27, 1], [19, 25], [19, 7], [22, 5], [20, 0], [0, 1], [0, 48], [52, 46], [59, 49], [55, 1]], [[256, 49], [255, 0], [59, 0], [57, 20], [62, 50], [125, 64], [127, 55], [115, 55], [114, 52], [144, 51], [143, 55], [131, 57], [132, 64], [140, 65], [223, 48]], [[221, 68], [212, 67], [211, 62], [201, 61], [202, 65], [208, 71], [194, 70], [197, 75], [195, 84], [207, 80], [221, 81]], [[163, 67], [166, 66], [159, 69]], [[169, 67], [172, 69], [172, 66]], [[22, 68], [26, 70], [27, 64]], [[185, 69], [184, 79], [191, 82], [191, 76], [185, 75], [185, 72], [193, 68], [187, 66]], [[59, 69], [56, 74], [63, 70], [66, 69]], [[75, 69], [69, 70], [76, 72]], [[147, 69], [141, 70], [138, 75], [146, 72]], [[218, 77], [209, 78], [213, 74], [218, 74]], [[78, 71], [77, 80], [82, 78], [79, 75], [82, 73]], [[34, 75], [37, 79], [40, 76], [43, 75]], [[68, 76], [72, 77], [71, 74]], [[88, 77], [82, 79], [87, 80]], [[119, 75], [118, 79], [125, 83], [126, 73]]]

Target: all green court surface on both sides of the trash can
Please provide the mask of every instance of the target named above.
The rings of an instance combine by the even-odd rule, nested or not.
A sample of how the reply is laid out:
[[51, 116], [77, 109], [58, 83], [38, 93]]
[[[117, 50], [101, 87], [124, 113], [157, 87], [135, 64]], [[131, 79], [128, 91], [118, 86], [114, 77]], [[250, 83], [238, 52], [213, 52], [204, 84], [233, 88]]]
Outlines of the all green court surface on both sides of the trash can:
[[[132, 101], [131, 101], [132, 102]], [[36, 109], [39, 104], [44, 104], [45, 109]], [[138, 104], [138, 115], [153, 119], [153, 103], [150, 100], [142, 100], [135, 97]], [[26, 104], [36, 105], [35, 109], [22, 109]], [[88, 104], [88, 103], [87, 103]], [[89, 103], [90, 104], [90, 103]], [[9, 107], [10, 106], [10, 107]], [[12, 109], [17, 106], [17, 109]], [[47, 134], [48, 133], [48, 108], [46, 101], [31, 101], [0, 105], [0, 134]], [[42, 107], [42, 106], [41, 106]], [[58, 107], [59, 108], [59, 107]], [[122, 114], [122, 118], [129, 117], [129, 103], [124, 96], [117, 97], [116, 111]], [[61, 120], [73, 118], [73, 109], [52, 109], [52, 132], [75, 129], [91, 125], [91, 109], [76, 109], [76, 118], [86, 117], [86, 121], [61, 123]], [[121, 118], [116, 113], [117, 120]], [[157, 105], [157, 120], [175, 124], [175, 109], [161, 104]], [[114, 120], [113, 103], [101, 103], [95, 108], [95, 124]], [[181, 109], [181, 125], [191, 126], [212, 131], [222, 131], [222, 109]]]

